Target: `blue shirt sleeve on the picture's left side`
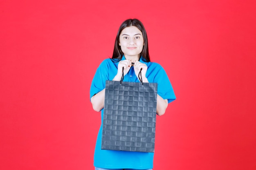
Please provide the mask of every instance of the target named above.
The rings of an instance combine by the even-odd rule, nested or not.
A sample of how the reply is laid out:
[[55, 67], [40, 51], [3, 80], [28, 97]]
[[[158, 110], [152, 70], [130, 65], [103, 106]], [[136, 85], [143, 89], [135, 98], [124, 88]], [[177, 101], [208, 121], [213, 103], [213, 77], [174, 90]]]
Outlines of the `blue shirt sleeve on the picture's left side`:
[[108, 72], [108, 63], [106, 60], [103, 60], [103, 62], [97, 68], [97, 71], [92, 79], [92, 84], [90, 88], [90, 99], [92, 98], [92, 96], [99, 93], [105, 88], [106, 80], [109, 79]]

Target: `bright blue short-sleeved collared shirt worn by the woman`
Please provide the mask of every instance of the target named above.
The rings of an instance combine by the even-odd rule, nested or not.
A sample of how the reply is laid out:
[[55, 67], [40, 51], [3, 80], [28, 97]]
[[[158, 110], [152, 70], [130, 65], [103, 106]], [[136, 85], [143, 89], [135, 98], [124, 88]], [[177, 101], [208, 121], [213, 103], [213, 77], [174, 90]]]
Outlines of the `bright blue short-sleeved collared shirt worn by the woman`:
[[[122, 57], [122, 60], [126, 60]], [[146, 77], [148, 82], [158, 83], [157, 94], [163, 99], [168, 99], [168, 103], [176, 99], [171, 82], [168, 79], [164, 68], [160, 64], [154, 62], [144, 62], [148, 66]], [[112, 62], [110, 58], [103, 60], [92, 79], [90, 88], [90, 98], [105, 88], [106, 80], [112, 80], [117, 74], [117, 66], [119, 62]], [[139, 82], [135, 75], [133, 67], [124, 76], [124, 82]], [[108, 169], [150, 169], [153, 168], [152, 152], [129, 152], [117, 150], [101, 150], [101, 135], [104, 109], [101, 110], [101, 126], [99, 129], [95, 151], [94, 166]]]

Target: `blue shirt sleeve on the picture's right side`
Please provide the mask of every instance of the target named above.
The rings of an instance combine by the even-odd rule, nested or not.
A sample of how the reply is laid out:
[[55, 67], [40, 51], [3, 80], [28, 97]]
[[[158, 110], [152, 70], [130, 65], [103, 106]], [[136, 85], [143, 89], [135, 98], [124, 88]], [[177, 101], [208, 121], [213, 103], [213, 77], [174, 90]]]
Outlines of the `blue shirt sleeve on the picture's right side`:
[[154, 78], [154, 82], [157, 82], [157, 93], [163, 99], [168, 99], [168, 103], [176, 99], [175, 93], [173, 91], [173, 86], [166, 74], [164, 68], [158, 65], [157, 73]]

